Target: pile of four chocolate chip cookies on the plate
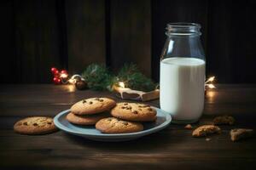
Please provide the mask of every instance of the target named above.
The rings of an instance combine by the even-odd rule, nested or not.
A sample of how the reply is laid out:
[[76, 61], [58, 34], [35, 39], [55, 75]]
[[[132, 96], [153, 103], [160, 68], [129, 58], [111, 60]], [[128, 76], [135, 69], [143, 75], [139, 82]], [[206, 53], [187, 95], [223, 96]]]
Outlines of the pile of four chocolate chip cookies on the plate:
[[[111, 115], [111, 116], [110, 116]], [[108, 98], [84, 99], [71, 107], [67, 121], [94, 125], [102, 133], [135, 133], [143, 130], [142, 122], [154, 122], [156, 111], [149, 105], [118, 103]]]

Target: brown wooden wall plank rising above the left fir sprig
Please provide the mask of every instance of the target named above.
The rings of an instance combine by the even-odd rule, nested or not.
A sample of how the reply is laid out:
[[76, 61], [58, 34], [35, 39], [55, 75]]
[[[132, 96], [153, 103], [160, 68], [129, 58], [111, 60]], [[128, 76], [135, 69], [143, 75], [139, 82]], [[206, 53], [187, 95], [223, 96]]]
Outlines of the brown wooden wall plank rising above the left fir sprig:
[[105, 63], [105, 2], [66, 1], [68, 69], [80, 73], [91, 63]]

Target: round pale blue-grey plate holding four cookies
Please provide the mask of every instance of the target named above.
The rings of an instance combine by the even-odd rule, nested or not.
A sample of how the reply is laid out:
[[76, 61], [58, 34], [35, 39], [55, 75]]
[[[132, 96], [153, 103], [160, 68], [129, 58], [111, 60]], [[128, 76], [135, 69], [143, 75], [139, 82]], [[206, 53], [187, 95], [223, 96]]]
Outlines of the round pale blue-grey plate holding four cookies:
[[79, 126], [67, 122], [66, 116], [70, 112], [69, 110], [61, 111], [55, 116], [54, 122], [55, 126], [65, 131], [66, 133], [71, 133], [73, 135], [81, 136], [86, 139], [98, 140], [98, 141], [125, 141], [131, 139], [137, 139], [143, 137], [150, 133], [155, 133], [161, 129], [167, 127], [172, 121], [170, 114], [159, 108], [154, 107], [157, 111], [157, 120], [155, 122], [144, 122], [144, 130], [137, 133], [118, 133], [118, 134], [108, 134], [101, 133], [96, 130], [95, 126]]

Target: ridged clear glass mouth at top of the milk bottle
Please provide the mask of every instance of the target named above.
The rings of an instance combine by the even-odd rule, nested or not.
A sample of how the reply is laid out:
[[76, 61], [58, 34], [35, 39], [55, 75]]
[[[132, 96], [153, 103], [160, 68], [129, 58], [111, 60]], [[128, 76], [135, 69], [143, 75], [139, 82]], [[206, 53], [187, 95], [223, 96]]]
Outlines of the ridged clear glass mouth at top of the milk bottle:
[[169, 23], [166, 27], [166, 35], [200, 36], [201, 25], [188, 22]]

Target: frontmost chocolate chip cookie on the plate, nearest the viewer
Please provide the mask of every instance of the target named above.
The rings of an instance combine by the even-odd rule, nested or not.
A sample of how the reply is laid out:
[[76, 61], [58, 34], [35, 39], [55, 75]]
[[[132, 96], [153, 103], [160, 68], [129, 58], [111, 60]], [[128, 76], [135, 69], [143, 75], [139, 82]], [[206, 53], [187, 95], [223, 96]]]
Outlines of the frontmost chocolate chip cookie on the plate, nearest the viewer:
[[96, 129], [102, 133], [136, 133], [143, 130], [143, 124], [108, 117], [96, 122]]

